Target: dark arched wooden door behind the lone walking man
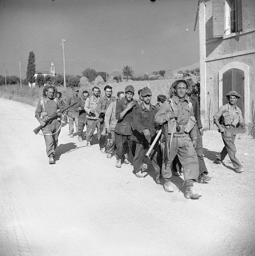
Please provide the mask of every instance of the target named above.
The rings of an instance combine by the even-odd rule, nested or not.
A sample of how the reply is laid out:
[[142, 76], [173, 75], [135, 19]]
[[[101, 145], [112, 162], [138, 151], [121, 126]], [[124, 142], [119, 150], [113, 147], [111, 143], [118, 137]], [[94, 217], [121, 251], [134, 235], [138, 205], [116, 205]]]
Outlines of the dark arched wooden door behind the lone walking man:
[[238, 99], [237, 106], [244, 115], [244, 71], [241, 69], [229, 69], [222, 75], [222, 103], [227, 104], [226, 94], [229, 91], [238, 92], [242, 98]]

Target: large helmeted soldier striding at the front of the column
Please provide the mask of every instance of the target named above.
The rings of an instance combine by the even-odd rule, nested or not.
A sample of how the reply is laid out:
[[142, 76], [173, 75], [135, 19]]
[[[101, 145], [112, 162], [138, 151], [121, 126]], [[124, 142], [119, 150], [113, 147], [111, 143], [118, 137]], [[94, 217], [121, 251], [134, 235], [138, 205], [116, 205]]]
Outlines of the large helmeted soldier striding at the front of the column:
[[[173, 159], [178, 158], [183, 166], [184, 185], [186, 187], [184, 196], [186, 198], [198, 199], [201, 195], [193, 190], [193, 182], [198, 181], [198, 158], [195, 152], [196, 129], [193, 107], [187, 97], [188, 83], [179, 79], [173, 83], [174, 95], [169, 101], [164, 101], [155, 115], [158, 124], [165, 125], [165, 135], [161, 137], [162, 151], [164, 152], [164, 167], [162, 177], [164, 178], [164, 190], [173, 192], [170, 178], [172, 176], [171, 164]], [[169, 148], [169, 150], [167, 150]]]

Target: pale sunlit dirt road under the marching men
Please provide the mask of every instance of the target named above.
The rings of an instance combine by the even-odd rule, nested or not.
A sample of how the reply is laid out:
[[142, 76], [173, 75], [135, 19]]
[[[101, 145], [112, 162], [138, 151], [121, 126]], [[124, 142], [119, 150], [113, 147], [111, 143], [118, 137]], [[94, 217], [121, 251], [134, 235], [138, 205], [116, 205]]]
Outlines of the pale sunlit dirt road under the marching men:
[[[115, 167], [62, 128], [57, 161], [48, 164], [35, 108], [0, 99], [1, 256], [251, 256], [255, 255], [255, 140], [238, 135], [244, 173], [212, 163], [220, 134], [204, 135], [209, 184], [199, 200]], [[146, 174], [146, 173], [145, 173]]]

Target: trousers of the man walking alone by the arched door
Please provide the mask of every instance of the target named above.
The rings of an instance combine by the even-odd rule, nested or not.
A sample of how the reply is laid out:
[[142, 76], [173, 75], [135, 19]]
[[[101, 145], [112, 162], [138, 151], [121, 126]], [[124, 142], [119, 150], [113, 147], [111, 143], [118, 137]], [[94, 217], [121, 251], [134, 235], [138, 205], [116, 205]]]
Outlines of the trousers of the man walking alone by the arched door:
[[236, 147], [235, 147], [235, 137], [237, 133], [236, 127], [225, 128], [224, 132], [221, 132], [222, 140], [224, 142], [224, 148], [221, 150], [220, 155], [217, 159], [223, 161], [226, 155], [229, 155], [229, 158], [236, 170], [240, 170], [242, 165], [238, 158], [236, 157]]

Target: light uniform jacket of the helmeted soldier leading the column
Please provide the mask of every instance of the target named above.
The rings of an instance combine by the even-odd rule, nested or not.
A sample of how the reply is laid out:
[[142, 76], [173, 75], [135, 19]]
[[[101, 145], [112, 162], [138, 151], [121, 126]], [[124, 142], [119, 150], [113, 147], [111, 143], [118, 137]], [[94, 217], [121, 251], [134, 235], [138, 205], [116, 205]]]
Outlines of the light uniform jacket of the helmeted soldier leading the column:
[[[155, 121], [157, 124], [164, 124], [165, 122], [167, 122], [169, 134], [173, 131], [174, 136], [184, 135], [185, 125], [189, 121], [190, 116], [194, 116], [193, 107], [190, 107], [190, 101], [188, 97], [185, 97], [184, 101], [180, 101], [178, 96], [174, 95], [170, 100], [171, 104], [169, 101], [164, 101], [161, 108], [155, 115]], [[177, 120], [176, 118], [170, 118], [167, 114], [168, 112], [173, 112], [173, 108], [179, 111]], [[178, 122], [179, 125], [184, 126], [179, 132], [176, 131], [176, 122]], [[196, 138], [195, 127], [193, 127], [193, 129], [191, 130], [190, 137]]]

